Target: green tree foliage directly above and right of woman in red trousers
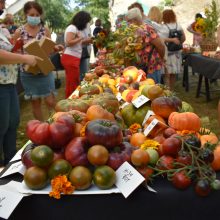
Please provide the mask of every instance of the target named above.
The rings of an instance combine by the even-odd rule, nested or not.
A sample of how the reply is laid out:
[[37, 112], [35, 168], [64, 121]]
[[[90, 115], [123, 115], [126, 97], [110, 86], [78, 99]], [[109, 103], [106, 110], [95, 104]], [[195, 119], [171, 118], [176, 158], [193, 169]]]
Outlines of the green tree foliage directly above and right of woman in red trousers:
[[75, 0], [81, 10], [88, 11], [91, 17], [102, 20], [104, 26], [109, 25], [109, 0]]

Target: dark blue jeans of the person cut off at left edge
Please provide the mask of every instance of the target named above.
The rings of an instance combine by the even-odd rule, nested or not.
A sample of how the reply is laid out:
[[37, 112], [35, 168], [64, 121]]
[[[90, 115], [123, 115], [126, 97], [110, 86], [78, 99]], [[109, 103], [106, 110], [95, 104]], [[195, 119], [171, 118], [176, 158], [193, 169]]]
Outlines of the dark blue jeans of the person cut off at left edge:
[[15, 85], [0, 85], [0, 109], [0, 165], [6, 165], [16, 153], [20, 111]]

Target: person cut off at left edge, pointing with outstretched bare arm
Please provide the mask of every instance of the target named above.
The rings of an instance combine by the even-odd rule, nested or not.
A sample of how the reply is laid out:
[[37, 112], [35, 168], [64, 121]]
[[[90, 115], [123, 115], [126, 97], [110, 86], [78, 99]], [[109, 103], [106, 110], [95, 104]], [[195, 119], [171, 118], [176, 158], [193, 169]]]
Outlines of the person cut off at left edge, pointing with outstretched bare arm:
[[[5, 1], [0, 0], [0, 14]], [[34, 66], [37, 57], [13, 54], [13, 45], [0, 27], [0, 167], [5, 166], [16, 153], [16, 131], [19, 124], [19, 102], [16, 89], [17, 65], [26, 63]]]

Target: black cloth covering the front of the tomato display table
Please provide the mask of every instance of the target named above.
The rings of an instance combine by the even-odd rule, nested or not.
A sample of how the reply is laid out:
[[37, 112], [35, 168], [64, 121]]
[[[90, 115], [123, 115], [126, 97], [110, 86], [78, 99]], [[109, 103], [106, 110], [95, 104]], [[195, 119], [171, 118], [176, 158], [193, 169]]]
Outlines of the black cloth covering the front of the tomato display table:
[[[20, 174], [0, 180], [22, 181]], [[207, 220], [220, 216], [220, 191], [208, 197], [199, 197], [194, 188], [185, 191], [174, 188], [166, 178], [155, 180], [152, 185], [157, 193], [139, 186], [127, 199], [122, 194], [108, 195], [62, 195], [56, 200], [49, 195], [24, 197], [10, 216], [10, 220]], [[1, 219], [1, 218], [0, 218]]]

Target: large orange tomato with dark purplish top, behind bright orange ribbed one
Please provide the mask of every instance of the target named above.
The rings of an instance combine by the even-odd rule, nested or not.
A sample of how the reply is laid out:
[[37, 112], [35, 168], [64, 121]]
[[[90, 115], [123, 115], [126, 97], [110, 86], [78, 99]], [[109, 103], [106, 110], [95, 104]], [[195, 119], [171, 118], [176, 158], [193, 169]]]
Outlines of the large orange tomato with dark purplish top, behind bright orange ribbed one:
[[178, 110], [177, 104], [170, 97], [158, 97], [151, 103], [151, 108], [156, 115], [168, 118], [172, 112]]

